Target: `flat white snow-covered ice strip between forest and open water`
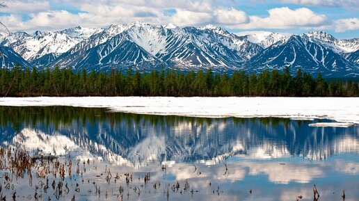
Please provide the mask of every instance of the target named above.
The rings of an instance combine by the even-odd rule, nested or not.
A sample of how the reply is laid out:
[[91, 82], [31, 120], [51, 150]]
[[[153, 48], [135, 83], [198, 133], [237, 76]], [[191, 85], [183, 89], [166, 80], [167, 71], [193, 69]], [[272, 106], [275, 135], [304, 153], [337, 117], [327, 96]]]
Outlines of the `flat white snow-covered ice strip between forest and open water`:
[[359, 124], [358, 97], [5, 97], [0, 106], [81, 106], [195, 117], [326, 118]]

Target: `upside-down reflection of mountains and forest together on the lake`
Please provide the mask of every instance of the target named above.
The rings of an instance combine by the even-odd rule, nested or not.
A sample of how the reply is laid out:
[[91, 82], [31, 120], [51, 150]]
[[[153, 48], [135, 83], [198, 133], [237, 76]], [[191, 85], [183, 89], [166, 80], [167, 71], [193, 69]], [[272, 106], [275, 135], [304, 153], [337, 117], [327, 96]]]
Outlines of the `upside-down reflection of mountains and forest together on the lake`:
[[[163, 161], [216, 163], [301, 156], [321, 160], [358, 153], [357, 126], [308, 127], [284, 118], [188, 118], [110, 113], [104, 108], [0, 107], [3, 143], [127, 166]], [[314, 120], [317, 122], [317, 120]]]

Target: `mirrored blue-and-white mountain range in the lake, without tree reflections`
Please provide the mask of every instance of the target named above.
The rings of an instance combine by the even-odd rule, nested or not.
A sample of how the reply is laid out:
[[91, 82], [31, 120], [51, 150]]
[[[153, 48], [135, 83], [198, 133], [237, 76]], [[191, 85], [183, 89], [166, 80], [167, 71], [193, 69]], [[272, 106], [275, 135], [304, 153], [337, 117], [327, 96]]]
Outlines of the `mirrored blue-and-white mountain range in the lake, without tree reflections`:
[[[0, 127], [3, 134], [0, 140], [24, 150], [54, 155], [67, 154], [67, 149], [81, 150], [71, 155], [83, 159], [87, 159], [87, 155], [101, 156], [111, 163], [119, 163], [113, 160], [117, 158], [140, 167], [163, 161], [218, 163], [237, 154], [252, 159], [301, 156], [320, 160], [339, 153], [357, 152], [355, 127], [335, 131], [308, 127], [296, 121], [271, 124], [257, 119], [239, 123], [233, 119], [186, 122], [178, 118], [179, 121], [171, 125], [144, 118], [138, 120], [140, 124], [131, 118], [113, 120], [111, 124], [108, 119], [103, 122], [75, 120], [70, 126], [57, 128], [54, 124], [38, 122], [35, 127], [21, 125], [19, 131]], [[328, 134], [328, 138], [320, 138], [322, 132]]]

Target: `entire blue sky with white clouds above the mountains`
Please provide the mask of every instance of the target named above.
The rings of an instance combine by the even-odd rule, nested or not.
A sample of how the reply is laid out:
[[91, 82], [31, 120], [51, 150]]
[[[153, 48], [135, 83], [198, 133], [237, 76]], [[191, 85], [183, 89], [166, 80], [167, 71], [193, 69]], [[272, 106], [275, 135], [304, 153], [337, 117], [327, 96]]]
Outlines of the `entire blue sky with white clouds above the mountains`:
[[5, 0], [0, 22], [10, 31], [58, 31], [148, 24], [204, 26], [232, 33], [326, 31], [359, 38], [359, 0]]

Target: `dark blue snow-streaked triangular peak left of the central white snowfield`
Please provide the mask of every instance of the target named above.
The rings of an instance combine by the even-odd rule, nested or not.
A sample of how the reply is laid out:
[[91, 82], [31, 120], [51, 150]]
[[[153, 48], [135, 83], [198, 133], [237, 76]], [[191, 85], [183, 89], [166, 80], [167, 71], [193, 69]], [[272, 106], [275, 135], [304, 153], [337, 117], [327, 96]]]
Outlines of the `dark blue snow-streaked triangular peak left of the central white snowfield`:
[[149, 66], [159, 65], [159, 63], [157, 58], [129, 40], [128, 35], [120, 33], [93, 48], [62, 55], [51, 66], [60, 65], [74, 69], [86, 66], [88, 71], [109, 71], [111, 67], [117, 67], [118, 70], [127, 70], [128, 67], [145, 69]]

